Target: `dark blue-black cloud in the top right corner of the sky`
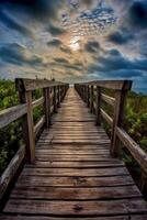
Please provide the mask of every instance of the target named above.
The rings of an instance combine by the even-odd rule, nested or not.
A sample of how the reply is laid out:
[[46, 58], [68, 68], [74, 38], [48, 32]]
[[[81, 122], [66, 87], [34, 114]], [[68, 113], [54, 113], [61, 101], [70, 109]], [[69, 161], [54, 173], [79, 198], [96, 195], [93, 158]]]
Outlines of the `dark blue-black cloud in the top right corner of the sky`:
[[129, 21], [134, 28], [147, 28], [147, 1], [134, 1], [129, 8]]

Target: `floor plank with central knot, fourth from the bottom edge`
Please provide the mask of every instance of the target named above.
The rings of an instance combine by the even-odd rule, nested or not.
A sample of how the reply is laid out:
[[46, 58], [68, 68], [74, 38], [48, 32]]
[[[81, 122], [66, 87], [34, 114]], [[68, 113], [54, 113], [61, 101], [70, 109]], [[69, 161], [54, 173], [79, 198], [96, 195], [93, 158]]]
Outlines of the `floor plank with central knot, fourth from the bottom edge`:
[[112, 187], [134, 185], [129, 175], [82, 177], [82, 176], [27, 176], [21, 175], [16, 186], [56, 186], [56, 187]]

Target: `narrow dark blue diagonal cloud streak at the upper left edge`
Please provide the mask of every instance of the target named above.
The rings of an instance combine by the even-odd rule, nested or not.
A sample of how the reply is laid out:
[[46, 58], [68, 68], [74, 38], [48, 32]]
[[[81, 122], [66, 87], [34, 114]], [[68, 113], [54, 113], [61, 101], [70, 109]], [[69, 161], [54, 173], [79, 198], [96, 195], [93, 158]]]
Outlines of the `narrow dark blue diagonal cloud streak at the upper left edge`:
[[24, 25], [20, 24], [18, 21], [12, 19], [9, 14], [4, 13], [2, 9], [0, 9], [0, 22], [2, 22], [7, 28], [14, 30], [22, 35], [32, 37], [32, 32], [25, 28]]

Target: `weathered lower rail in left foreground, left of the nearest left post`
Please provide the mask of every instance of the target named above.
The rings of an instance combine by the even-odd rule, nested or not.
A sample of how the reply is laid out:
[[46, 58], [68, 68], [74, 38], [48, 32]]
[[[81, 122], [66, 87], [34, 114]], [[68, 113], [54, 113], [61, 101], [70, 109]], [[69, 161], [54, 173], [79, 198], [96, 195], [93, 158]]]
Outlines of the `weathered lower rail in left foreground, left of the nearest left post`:
[[3, 197], [9, 184], [14, 177], [25, 155], [25, 147], [21, 146], [0, 177], [0, 199]]

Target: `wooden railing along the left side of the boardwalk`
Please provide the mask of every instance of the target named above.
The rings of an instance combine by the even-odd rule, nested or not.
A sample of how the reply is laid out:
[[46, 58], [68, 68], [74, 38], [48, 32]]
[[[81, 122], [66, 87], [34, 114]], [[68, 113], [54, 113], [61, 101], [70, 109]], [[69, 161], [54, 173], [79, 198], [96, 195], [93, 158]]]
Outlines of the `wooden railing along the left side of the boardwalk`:
[[[69, 87], [68, 84], [60, 81], [21, 78], [15, 80], [15, 85], [19, 90], [21, 103], [0, 112], [0, 129], [3, 129], [11, 122], [21, 118], [24, 145], [20, 146], [7, 169], [1, 175], [0, 198], [2, 198], [23, 160], [25, 158], [26, 163], [34, 162], [35, 136], [44, 125], [49, 128], [52, 123], [52, 114], [57, 112], [57, 109], [59, 108], [60, 102], [63, 101]], [[33, 101], [32, 92], [36, 89], [43, 89], [43, 97]], [[39, 106], [43, 106], [44, 116], [36, 124], [34, 124], [33, 109]]]

